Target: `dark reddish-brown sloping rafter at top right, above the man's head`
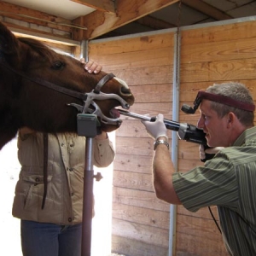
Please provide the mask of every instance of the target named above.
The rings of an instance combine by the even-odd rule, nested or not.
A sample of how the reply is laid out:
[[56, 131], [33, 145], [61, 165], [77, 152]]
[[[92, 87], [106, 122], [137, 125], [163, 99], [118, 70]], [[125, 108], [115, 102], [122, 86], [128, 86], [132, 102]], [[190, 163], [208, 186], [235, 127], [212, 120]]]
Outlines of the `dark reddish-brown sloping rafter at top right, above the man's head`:
[[205, 14], [207, 16], [212, 17], [215, 20], [230, 20], [234, 19], [230, 15], [225, 14], [224, 12], [216, 9], [212, 5], [205, 3], [201, 0], [182, 0], [182, 3], [189, 6], [192, 9], [196, 9], [197, 11]]

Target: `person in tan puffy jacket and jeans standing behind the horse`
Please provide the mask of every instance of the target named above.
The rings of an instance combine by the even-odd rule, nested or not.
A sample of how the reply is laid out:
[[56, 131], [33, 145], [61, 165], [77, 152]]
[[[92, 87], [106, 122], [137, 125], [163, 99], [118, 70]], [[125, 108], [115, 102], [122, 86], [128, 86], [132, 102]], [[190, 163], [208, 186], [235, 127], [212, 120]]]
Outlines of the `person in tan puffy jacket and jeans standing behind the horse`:
[[[84, 62], [84, 60], [82, 60]], [[89, 73], [102, 66], [84, 64]], [[113, 162], [113, 145], [102, 131], [95, 137], [93, 164]], [[20, 218], [24, 256], [80, 256], [82, 240], [85, 137], [76, 134], [48, 135], [47, 196], [44, 209], [43, 134], [20, 129], [18, 158], [20, 177], [15, 188], [13, 216]]]

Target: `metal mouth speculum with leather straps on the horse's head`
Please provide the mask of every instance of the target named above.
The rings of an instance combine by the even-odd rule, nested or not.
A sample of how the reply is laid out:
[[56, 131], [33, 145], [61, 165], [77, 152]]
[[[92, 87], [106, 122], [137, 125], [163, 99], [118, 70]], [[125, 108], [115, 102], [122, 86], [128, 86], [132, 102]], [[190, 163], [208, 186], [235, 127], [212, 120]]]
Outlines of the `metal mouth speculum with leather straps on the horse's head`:
[[[84, 105], [79, 105], [76, 103], [67, 103], [67, 106], [72, 106], [74, 108], [77, 108], [77, 110], [81, 113], [91, 113], [91, 114], [96, 114], [96, 116], [98, 118], [101, 118], [102, 123], [106, 124], [106, 125], [120, 125], [121, 124], [121, 120], [120, 119], [111, 119], [108, 118], [106, 115], [104, 115], [102, 113], [102, 110], [99, 108], [99, 106], [96, 104], [96, 102], [94, 102], [94, 100], [108, 100], [108, 99], [114, 99], [117, 100], [122, 108], [125, 109], [129, 109], [130, 105], [125, 102], [125, 100], [123, 98], [121, 98], [120, 96], [113, 94], [113, 93], [103, 93], [101, 91], [102, 86], [106, 83], [108, 83], [108, 81], [110, 79], [113, 79], [115, 76], [113, 73], [107, 73], [97, 84], [96, 84], [96, 88], [94, 90], [92, 90], [89, 93], [82, 93], [76, 90], [70, 90], [67, 89], [65, 87], [61, 87], [60, 85], [57, 84], [53, 84], [49, 81], [46, 81], [44, 79], [38, 79], [38, 78], [31, 78], [29, 76], [26, 75], [26, 73], [20, 72], [15, 70], [12, 67], [9, 67], [8, 65], [5, 65], [5, 63], [3, 63], [5, 61], [0, 61], [0, 64], [5, 67], [6, 69], [9, 69], [9, 71], [16, 73], [18, 75], [20, 75], [21, 77], [30, 80], [36, 84], [39, 85], [43, 85], [49, 89], [52, 90], [56, 90], [58, 92], [61, 92], [63, 94], [66, 94], [68, 96], [73, 96], [74, 98], [78, 98], [80, 100], [82, 100], [84, 102]], [[94, 109], [91, 109], [90, 106], [92, 106]]]

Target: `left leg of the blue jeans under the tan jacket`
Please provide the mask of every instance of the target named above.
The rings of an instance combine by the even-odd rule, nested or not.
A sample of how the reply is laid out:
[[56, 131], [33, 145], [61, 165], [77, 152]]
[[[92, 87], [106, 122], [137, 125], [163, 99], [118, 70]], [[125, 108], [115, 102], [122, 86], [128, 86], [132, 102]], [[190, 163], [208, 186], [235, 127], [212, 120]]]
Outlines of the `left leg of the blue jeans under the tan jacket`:
[[21, 247], [24, 256], [58, 256], [61, 225], [21, 220]]

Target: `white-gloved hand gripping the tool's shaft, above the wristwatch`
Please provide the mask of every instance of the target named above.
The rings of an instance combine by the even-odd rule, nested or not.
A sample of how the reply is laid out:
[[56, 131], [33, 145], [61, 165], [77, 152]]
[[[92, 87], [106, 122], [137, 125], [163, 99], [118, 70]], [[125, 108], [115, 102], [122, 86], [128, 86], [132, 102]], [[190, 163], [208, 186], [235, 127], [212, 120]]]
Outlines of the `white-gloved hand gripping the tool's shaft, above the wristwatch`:
[[164, 115], [162, 113], [159, 113], [156, 116], [156, 119], [154, 122], [142, 120], [142, 123], [143, 125], [145, 125], [148, 135], [150, 137], [154, 138], [155, 140], [158, 137], [166, 137], [166, 140], [168, 140], [167, 129], [164, 123]]

